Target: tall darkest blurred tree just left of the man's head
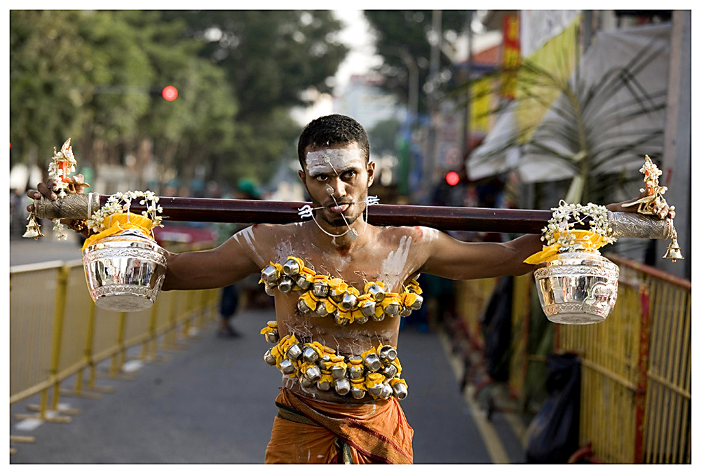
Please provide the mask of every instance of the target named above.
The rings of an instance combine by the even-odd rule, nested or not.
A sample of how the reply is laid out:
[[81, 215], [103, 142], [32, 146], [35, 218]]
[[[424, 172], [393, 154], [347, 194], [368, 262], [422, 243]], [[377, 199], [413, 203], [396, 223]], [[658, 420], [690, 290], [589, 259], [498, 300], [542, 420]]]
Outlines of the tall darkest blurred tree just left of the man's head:
[[226, 71], [238, 100], [235, 146], [217, 155], [217, 177], [263, 182], [280, 161], [296, 159], [299, 126], [287, 111], [305, 103], [307, 88], [331, 91], [348, 52], [336, 38], [341, 22], [330, 11], [168, 11], [164, 18], [186, 22], [184, 37]]

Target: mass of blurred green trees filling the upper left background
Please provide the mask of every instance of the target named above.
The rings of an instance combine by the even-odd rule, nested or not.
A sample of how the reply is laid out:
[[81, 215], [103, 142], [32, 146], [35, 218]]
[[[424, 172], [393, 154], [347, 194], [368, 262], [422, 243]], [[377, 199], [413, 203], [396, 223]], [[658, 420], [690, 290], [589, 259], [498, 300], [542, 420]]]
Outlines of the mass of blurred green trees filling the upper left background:
[[294, 159], [287, 109], [308, 87], [328, 92], [348, 51], [329, 11], [11, 11], [10, 23], [11, 163], [43, 167], [71, 137], [99, 172], [148, 140], [185, 182], [196, 165], [262, 182]]

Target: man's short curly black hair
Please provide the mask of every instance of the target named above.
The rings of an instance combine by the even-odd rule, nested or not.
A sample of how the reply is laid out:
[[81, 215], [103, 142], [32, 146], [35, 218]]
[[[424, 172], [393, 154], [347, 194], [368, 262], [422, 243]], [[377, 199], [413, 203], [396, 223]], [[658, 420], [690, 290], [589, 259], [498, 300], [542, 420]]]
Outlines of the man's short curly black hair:
[[365, 163], [370, 157], [370, 144], [367, 140], [365, 128], [355, 119], [341, 115], [332, 114], [315, 118], [309, 122], [297, 142], [297, 156], [299, 164], [304, 170], [305, 154], [307, 147], [323, 147], [332, 145], [347, 145], [358, 143], [358, 147], [365, 154]]

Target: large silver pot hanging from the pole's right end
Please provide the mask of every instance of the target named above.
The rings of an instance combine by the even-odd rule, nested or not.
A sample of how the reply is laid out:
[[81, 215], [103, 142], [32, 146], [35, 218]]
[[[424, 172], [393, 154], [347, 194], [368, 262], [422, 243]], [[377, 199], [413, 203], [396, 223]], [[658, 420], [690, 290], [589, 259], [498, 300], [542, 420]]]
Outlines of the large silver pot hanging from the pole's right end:
[[598, 251], [571, 250], [535, 271], [540, 306], [547, 319], [562, 324], [601, 323], [618, 296], [618, 265]]

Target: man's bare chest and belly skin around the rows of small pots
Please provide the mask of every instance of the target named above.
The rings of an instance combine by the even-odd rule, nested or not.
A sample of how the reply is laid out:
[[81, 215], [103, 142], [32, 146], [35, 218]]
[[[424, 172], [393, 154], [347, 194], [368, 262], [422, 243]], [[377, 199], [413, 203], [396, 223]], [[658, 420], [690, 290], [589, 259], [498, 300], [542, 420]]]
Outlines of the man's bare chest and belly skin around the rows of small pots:
[[[368, 225], [358, 245], [336, 247], [329, 236], [320, 236], [313, 222], [304, 224], [252, 226], [233, 238], [259, 266], [284, 263], [287, 257], [304, 260], [316, 273], [342, 278], [361, 293], [368, 281], [381, 281], [387, 292], [400, 293], [421, 270], [428, 255], [428, 244], [437, 238], [435, 229], [425, 227], [375, 227]], [[360, 243], [362, 242], [362, 243]], [[236, 256], [232, 256], [236, 258]], [[261, 291], [263, 287], [261, 285]], [[297, 309], [297, 292], [275, 290], [275, 314], [280, 337], [294, 334], [302, 342], [318, 341], [339, 355], [360, 355], [383, 344], [397, 346], [400, 316], [365, 324], [338, 325], [333, 318], [305, 316]], [[398, 348], [401, 359], [401, 349]], [[357, 402], [333, 391], [303, 388], [296, 379], [283, 377], [287, 388], [306, 396], [334, 402]], [[367, 395], [360, 402], [370, 402]]]

